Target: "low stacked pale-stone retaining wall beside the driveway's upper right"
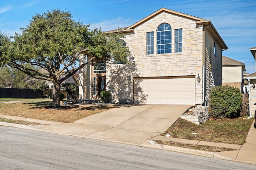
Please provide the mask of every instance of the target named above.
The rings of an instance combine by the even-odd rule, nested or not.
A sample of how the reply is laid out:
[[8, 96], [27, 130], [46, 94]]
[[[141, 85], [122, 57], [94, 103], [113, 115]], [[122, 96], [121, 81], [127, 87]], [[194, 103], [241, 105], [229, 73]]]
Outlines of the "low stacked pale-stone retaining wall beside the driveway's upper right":
[[194, 107], [189, 109], [188, 112], [184, 113], [180, 118], [201, 125], [209, 119], [208, 107]]

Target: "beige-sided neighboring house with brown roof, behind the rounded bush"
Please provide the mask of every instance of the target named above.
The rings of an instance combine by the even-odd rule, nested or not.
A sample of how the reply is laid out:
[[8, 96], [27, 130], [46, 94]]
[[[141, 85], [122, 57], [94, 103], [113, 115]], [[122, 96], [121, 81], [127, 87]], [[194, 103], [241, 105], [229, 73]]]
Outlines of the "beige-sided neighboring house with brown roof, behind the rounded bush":
[[222, 85], [237, 87], [243, 92], [244, 71], [246, 71], [244, 63], [222, 56]]

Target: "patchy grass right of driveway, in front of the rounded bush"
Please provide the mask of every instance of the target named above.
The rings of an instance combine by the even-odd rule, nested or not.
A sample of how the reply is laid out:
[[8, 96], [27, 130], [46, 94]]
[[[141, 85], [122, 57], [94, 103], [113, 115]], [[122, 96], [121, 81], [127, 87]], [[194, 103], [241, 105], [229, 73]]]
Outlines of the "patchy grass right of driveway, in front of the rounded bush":
[[[244, 144], [253, 119], [208, 120], [202, 125], [196, 125], [184, 119], [178, 119], [166, 132], [173, 138], [199, 141]], [[196, 134], [192, 134], [196, 133]]]

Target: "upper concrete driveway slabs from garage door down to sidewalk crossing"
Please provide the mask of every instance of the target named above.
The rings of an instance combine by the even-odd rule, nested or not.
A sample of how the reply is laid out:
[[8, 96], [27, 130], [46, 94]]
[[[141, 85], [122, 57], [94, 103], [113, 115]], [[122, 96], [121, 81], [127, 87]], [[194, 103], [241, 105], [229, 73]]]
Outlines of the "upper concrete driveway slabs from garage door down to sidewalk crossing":
[[191, 105], [135, 105], [110, 109], [75, 123], [162, 133]]

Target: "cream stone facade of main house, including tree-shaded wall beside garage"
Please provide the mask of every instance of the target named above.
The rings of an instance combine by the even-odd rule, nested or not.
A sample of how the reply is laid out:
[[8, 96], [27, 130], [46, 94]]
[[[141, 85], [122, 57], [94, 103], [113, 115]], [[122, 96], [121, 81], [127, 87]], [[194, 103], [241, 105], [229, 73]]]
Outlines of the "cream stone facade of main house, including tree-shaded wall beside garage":
[[[197, 23], [200, 21], [202, 23]], [[203, 22], [207, 22], [205, 25]], [[157, 54], [157, 29], [167, 23], [172, 30], [172, 53]], [[214, 50], [214, 39], [220, 39], [218, 34], [208, 32], [207, 29], [215, 29], [208, 20], [189, 16], [179, 12], [160, 9], [157, 12], [142, 19], [136, 24], [130, 26], [132, 31], [123, 31], [124, 41], [131, 51], [128, 58], [129, 63], [124, 65], [108, 65], [106, 70], [106, 90], [110, 91], [113, 103], [132, 103], [134, 102], [134, 91], [141, 89], [137, 80], [147, 77], [188, 77], [194, 76], [195, 83], [195, 103], [203, 104], [205, 96], [205, 86], [207, 80], [206, 67], [210, 70], [212, 65], [212, 74], [214, 85], [221, 85], [221, 60], [222, 49], [216, 43], [216, 55]], [[182, 29], [182, 52], [175, 52], [175, 30]], [[154, 33], [154, 54], [147, 54], [147, 33]], [[214, 37], [214, 35], [215, 37]], [[216, 37], [217, 36], [217, 37]], [[221, 41], [219, 41], [221, 42]], [[207, 43], [207, 44], [206, 44]], [[224, 44], [224, 42], [222, 42]], [[223, 45], [222, 44], [222, 45]], [[225, 45], [225, 44], [224, 44]], [[206, 49], [207, 46], [207, 49]], [[225, 47], [227, 48], [227, 47]], [[220, 55], [220, 56], [219, 56]], [[209, 58], [206, 59], [206, 58]], [[210, 60], [210, 58], [212, 58]], [[91, 67], [87, 67], [91, 69]], [[88, 70], [87, 70], [88, 73]], [[216, 73], [216, 74], [215, 74]], [[197, 81], [200, 77], [200, 81]], [[209, 77], [209, 76], [208, 76]], [[134, 81], [136, 79], [136, 81]], [[92, 82], [92, 72], [87, 75], [87, 86]], [[89, 82], [90, 81], [90, 82]], [[90, 87], [89, 87], [90, 88]], [[157, 89], [155, 89], [157, 90]], [[87, 88], [88, 91], [92, 89]], [[146, 97], [140, 94], [140, 99]], [[86, 95], [88, 98], [88, 95]], [[140, 100], [138, 99], [138, 100]]]

